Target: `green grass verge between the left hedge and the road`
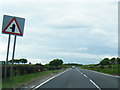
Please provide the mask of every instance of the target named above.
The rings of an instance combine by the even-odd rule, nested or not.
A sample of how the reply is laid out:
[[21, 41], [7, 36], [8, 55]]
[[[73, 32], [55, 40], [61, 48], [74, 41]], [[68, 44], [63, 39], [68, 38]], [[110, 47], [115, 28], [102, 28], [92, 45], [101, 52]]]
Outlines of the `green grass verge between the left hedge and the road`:
[[26, 74], [22, 76], [16, 76], [13, 78], [6, 78], [2, 80], [2, 88], [14, 88], [16, 86], [22, 85], [23, 83], [34, 80], [35, 78], [42, 77], [45, 75], [55, 74], [61, 71], [63, 70], [51, 70], [51, 71], [44, 71], [44, 72], [39, 72], [35, 74]]

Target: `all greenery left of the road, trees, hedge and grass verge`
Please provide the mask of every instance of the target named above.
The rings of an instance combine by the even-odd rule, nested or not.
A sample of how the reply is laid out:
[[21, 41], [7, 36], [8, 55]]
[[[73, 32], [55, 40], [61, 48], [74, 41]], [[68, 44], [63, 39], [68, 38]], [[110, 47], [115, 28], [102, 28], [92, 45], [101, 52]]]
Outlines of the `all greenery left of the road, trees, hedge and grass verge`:
[[[2, 84], [3, 88], [13, 88], [22, 83], [29, 82], [35, 78], [49, 75], [53, 73], [60, 72], [64, 70], [63, 60], [54, 59], [49, 64], [42, 65], [41, 63], [36, 64], [25, 64], [27, 59], [14, 59], [14, 64], [12, 65], [12, 60], [9, 61], [7, 66], [7, 77], [4, 77], [5, 74], [5, 63], [2, 65]], [[13, 68], [13, 76], [11, 78], [11, 67]]]

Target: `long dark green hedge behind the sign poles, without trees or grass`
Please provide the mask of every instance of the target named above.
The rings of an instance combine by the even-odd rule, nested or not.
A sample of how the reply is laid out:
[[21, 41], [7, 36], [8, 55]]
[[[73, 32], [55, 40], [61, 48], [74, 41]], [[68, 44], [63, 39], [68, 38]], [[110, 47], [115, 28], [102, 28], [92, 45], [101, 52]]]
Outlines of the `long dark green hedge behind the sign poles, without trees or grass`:
[[[7, 78], [10, 77], [11, 66], [7, 66]], [[37, 73], [41, 71], [45, 71], [44, 66], [36, 66], [36, 65], [13, 65], [13, 76], [19, 76], [24, 74]], [[2, 79], [5, 77], [5, 65], [2, 65]]]

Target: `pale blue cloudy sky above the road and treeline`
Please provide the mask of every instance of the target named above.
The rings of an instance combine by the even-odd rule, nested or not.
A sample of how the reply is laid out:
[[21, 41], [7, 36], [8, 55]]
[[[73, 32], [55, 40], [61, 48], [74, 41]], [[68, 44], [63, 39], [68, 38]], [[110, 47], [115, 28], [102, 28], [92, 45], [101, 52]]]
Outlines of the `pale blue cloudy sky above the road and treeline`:
[[[118, 0], [1, 0], [3, 15], [25, 18], [17, 36], [15, 59], [32, 63], [96, 64], [118, 56]], [[11, 37], [9, 60], [12, 58]], [[8, 35], [0, 33], [0, 61], [6, 60]]]

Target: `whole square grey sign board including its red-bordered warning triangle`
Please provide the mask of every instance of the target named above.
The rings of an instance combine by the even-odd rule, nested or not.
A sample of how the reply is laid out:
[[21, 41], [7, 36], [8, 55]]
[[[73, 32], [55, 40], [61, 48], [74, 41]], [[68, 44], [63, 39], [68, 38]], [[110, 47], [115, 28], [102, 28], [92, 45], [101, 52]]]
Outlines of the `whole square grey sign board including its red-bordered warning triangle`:
[[23, 36], [24, 18], [4, 15], [2, 33]]

